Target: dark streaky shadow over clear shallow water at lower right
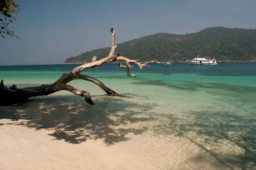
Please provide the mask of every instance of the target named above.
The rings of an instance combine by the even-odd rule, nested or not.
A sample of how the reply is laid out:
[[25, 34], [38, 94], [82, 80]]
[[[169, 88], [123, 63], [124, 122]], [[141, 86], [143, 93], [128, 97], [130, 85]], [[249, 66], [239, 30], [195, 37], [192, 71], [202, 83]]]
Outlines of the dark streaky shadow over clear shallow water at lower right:
[[[168, 125], [156, 125], [157, 133], [182, 136], [230, 170], [256, 169], [256, 119], [232, 113], [188, 113], [186, 120], [168, 117]], [[201, 154], [188, 161], [204, 161]]]

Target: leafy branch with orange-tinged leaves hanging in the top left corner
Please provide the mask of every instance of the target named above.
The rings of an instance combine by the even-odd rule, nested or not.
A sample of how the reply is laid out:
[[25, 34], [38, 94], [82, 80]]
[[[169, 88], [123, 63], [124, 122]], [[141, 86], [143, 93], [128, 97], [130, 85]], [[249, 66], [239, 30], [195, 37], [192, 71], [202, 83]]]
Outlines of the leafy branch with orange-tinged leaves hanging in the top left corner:
[[9, 35], [11, 37], [19, 36], [15, 35], [8, 26], [9, 23], [12, 23], [16, 18], [20, 19], [17, 16], [20, 13], [19, 4], [15, 3], [13, 0], [0, 0], [0, 37], [5, 38], [4, 35]]

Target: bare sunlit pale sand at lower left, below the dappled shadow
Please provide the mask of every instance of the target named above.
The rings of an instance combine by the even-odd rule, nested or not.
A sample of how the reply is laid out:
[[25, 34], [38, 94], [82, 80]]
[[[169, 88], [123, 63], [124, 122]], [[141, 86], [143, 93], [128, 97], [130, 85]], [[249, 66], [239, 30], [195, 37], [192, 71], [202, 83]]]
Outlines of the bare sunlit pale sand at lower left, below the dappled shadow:
[[54, 140], [54, 137], [48, 135], [52, 130], [35, 130], [14, 125], [19, 122], [0, 120], [1, 170], [147, 169], [113, 151], [100, 139], [70, 144]]

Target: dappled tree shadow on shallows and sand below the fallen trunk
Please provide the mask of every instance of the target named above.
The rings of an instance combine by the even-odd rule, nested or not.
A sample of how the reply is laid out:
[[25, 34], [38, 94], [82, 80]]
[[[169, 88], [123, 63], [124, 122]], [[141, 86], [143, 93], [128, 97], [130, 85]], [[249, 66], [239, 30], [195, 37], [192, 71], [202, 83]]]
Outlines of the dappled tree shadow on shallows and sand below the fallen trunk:
[[47, 96], [29, 101], [22, 107], [2, 107], [0, 119], [21, 120], [13, 125], [36, 130], [54, 130], [48, 134], [54, 140], [79, 144], [88, 139], [102, 139], [107, 145], [129, 140], [128, 133], [140, 135], [148, 130], [147, 127], [125, 125], [155, 119], [143, 114], [152, 106], [127, 102], [120, 97], [94, 99], [97, 105], [89, 105], [81, 98], [74, 101], [74, 98]]

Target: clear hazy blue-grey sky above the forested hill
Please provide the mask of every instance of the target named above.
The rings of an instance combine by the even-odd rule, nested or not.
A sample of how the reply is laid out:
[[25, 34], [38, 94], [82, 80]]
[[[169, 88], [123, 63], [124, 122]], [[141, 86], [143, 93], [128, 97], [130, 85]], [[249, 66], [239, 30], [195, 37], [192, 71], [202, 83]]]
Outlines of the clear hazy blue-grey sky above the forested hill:
[[0, 39], [0, 65], [62, 64], [85, 51], [166, 32], [256, 28], [256, 0], [16, 0], [21, 40]]

